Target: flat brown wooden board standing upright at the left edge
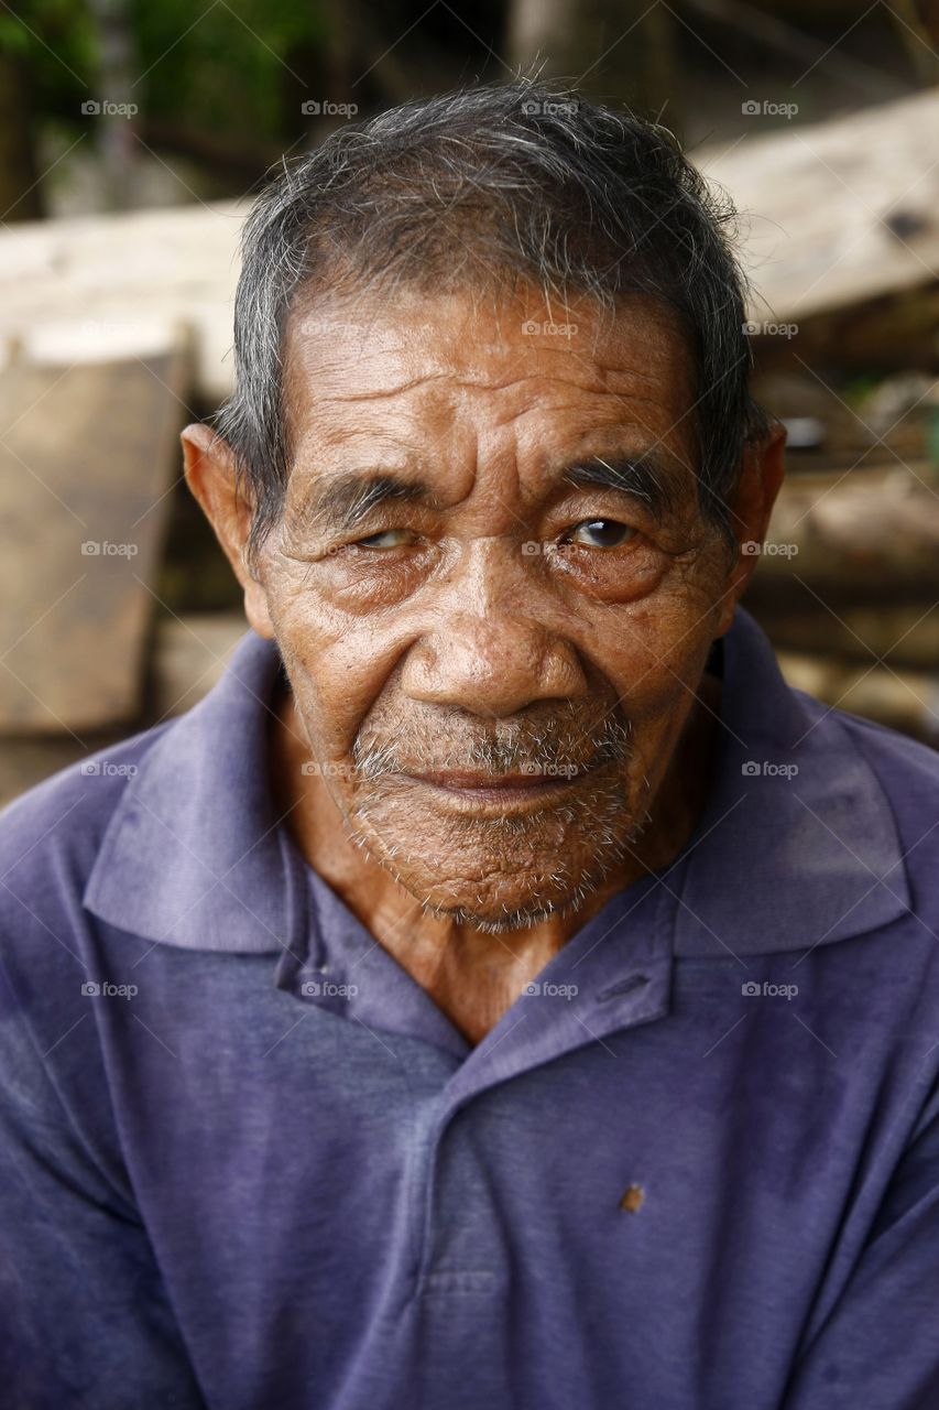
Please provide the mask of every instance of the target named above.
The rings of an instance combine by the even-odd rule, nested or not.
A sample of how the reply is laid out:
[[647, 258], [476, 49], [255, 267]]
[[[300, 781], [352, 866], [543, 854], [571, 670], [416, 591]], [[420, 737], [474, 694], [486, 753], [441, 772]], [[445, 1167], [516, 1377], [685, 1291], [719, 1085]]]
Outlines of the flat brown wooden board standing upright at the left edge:
[[188, 354], [16, 362], [0, 374], [0, 729], [134, 721], [169, 491], [180, 472]]

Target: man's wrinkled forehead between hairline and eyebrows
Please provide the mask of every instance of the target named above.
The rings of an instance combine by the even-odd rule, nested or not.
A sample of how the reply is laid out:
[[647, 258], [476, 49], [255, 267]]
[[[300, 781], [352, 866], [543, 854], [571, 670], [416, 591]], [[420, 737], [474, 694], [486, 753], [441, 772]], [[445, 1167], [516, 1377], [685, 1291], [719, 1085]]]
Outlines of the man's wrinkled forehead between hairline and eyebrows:
[[299, 299], [283, 345], [295, 457], [351, 440], [419, 446], [470, 429], [485, 441], [618, 427], [688, 464], [694, 368], [674, 316], [640, 296], [616, 310], [523, 286], [472, 293]]

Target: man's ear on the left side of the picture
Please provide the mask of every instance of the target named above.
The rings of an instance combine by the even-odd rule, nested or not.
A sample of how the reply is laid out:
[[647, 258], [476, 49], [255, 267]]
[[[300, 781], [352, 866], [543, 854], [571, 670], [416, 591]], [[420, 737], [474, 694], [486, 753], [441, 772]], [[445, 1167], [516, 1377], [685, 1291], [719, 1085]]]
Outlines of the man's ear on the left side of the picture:
[[252, 506], [237, 492], [231, 447], [202, 422], [188, 426], [180, 440], [186, 484], [241, 584], [245, 616], [258, 636], [274, 637], [266, 592], [248, 568]]

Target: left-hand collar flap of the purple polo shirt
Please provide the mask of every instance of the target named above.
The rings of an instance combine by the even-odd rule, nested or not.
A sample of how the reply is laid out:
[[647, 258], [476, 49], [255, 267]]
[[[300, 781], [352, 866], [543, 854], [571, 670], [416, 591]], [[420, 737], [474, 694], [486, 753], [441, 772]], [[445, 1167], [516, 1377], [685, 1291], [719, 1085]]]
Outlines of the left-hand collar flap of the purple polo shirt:
[[279, 671], [276, 644], [248, 632], [213, 689], [156, 737], [104, 832], [89, 911], [185, 949], [290, 943], [299, 877], [266, 777]]

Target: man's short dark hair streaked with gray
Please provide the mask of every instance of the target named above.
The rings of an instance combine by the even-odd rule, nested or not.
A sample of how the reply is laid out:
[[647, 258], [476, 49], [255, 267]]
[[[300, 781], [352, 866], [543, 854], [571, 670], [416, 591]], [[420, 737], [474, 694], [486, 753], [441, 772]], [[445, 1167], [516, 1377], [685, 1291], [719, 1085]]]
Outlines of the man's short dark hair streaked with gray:
[[214, 419], [252, 505], [250, 557], [283, 508], [282, 347], [297, 293], [393, 296], [402, 281], [526, 279], [610, 313], [630, 293], [663, 302], [694, 357], [701, 510], [733, 543], [728, 496], [767, 429], [749, 391], [735, 219], [665, 128], [524, 76], [406, 103], [285, 161], [244, 226], [235, 391]]

